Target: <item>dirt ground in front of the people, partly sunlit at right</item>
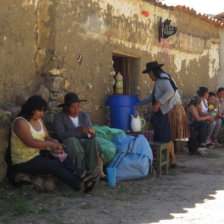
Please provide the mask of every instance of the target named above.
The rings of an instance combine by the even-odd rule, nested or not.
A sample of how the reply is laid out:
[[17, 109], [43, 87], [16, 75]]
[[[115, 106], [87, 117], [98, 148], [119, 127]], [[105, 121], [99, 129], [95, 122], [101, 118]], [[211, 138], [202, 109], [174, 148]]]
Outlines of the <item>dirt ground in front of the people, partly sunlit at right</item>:
[[91, 194], [63, 184], [54, 192], [0, 185], [0, 223], [224, 223], [224, 148], [177, 154], [178, 169], [161, 178], [100, 182]]

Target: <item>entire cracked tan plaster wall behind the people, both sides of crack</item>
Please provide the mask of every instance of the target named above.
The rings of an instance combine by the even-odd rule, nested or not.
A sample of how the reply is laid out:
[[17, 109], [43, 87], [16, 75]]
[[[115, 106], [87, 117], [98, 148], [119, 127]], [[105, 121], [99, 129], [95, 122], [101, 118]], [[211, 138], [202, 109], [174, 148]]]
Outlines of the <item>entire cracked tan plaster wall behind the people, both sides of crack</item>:
[[[150, 12], [148, 18], [141, 15], [143, 8]], [[139, 59], [132, 69], [131, 93], [140, 98], [152, 89], [141, 74], [151, 60], [165, 64], [184, 97], [195, 94], [198, 86], [216, 88], [218, 28], [185, 12], [139, 0], [0, 0], [0, 17], [1, 102], [15, 100], [18, 92], [34, 92], [44, 83], [42, 74], [65, 67], [65, 89], [88, 99], [83, 109], [94, 123], [103, 124], [113, 53]], [[169, 58], [158, 43], [160, 17], [178, 27], [166, 40]]]

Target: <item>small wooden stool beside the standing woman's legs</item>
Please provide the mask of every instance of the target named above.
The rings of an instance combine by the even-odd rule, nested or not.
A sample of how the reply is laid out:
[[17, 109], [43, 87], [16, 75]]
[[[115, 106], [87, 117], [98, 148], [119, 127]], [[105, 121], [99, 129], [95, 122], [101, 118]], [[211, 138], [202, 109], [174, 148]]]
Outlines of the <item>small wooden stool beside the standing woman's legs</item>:
[[161, 177], [162, 171], [165, 174], [168, 174], [168, 167], [169, 167], [169, 143], [163, 142], [149, 142], [154, 159], [153, 159], [153, 166], [156, 168], [157, 176]]

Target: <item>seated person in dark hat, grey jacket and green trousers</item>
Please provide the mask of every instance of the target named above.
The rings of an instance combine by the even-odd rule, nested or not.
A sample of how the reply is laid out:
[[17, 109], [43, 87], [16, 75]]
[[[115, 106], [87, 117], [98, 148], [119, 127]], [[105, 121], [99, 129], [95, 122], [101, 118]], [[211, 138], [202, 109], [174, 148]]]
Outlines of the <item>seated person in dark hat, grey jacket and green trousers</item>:
[[82, 169], [92, 169], [97, 165], [103, 172], [102, 148], [95, 138], [89, 115], [80, 111], [80, 100], [75, 93], [67, 93], [64, 103], [59, 105], [63, 111], [55, 114], [53, 128], [57, 138], [66, 145], [65, 151], [74, 164]]

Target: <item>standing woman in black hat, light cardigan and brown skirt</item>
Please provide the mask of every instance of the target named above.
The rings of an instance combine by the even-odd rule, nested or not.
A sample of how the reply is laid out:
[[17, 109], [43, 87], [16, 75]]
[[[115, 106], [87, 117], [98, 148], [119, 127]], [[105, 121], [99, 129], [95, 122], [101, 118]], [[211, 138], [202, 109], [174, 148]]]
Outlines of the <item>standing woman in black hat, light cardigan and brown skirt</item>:
[[155, 128], [155, 141], [169, 142], [170, 168], [176, 168], [173, 141], [188, 139], [190, 132], [176, 83], [161, 69], [162, 66], [157, 61], [146, 64], [142, 73], [148, 74], [155, 86], [141, 104], [152, 102], [151, 122]]

